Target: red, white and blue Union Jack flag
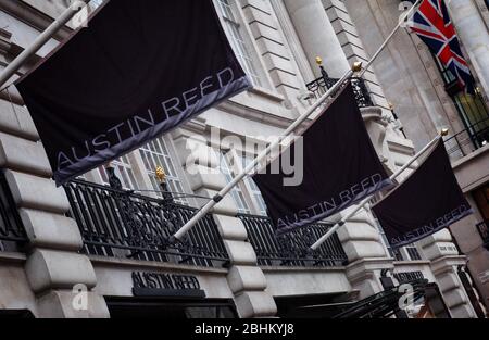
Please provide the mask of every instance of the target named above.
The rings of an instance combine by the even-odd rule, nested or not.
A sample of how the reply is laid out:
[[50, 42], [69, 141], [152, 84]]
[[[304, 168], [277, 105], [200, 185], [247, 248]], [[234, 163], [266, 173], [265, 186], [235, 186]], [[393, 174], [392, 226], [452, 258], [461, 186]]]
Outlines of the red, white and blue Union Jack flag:
[[440, 62], [457, 78], [461, 89], [474, 93], [471, 75], [443, 0], [423, 0], [408, 24]]

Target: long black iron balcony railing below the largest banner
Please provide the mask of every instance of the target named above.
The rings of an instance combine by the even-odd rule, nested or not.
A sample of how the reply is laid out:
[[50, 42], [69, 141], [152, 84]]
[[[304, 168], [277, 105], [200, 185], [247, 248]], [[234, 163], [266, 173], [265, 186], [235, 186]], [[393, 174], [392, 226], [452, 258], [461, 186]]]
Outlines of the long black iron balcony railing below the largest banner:
[[190, 219], [195, 209], [83, 180], [74, 180], [64, 189], [87, 254], [205, 267], [228, 261], [211, 215], [183, 242], [171, 244], [168, 239]]

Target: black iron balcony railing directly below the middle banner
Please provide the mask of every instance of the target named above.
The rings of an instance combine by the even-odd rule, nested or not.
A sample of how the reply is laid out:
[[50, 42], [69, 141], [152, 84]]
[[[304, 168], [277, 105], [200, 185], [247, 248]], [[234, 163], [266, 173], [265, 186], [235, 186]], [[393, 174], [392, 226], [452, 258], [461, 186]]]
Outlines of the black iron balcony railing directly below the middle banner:
[[319, 250], [313, 254], [308, 249], [330, 226], [315, 224], [309, 228], [276, 237], [268, 217], [253, 215], [238, 215], [243, 222], [251, 244], [261, 266], [342, 266], [348, 263], [338, 236], [335, 234]]

